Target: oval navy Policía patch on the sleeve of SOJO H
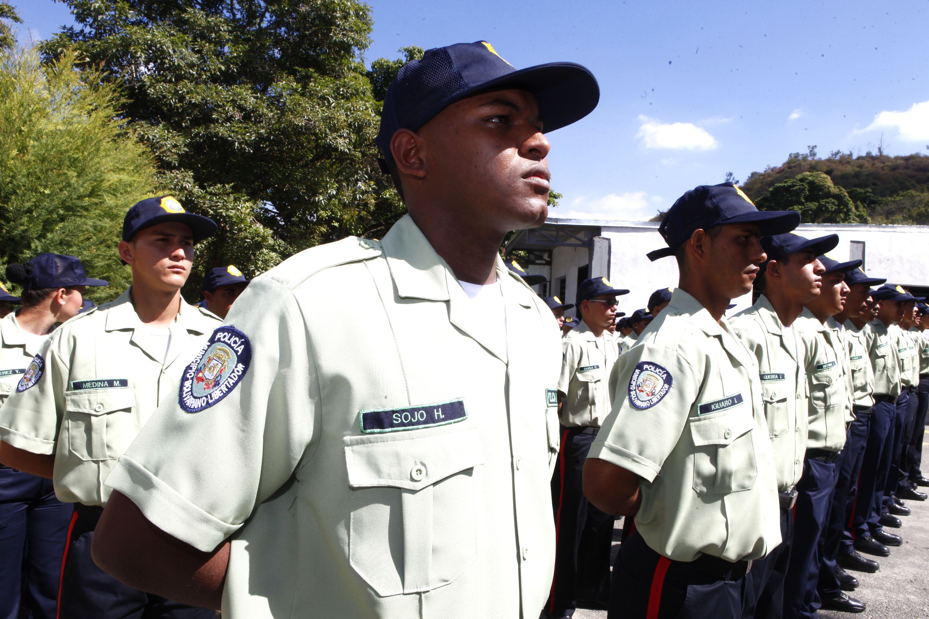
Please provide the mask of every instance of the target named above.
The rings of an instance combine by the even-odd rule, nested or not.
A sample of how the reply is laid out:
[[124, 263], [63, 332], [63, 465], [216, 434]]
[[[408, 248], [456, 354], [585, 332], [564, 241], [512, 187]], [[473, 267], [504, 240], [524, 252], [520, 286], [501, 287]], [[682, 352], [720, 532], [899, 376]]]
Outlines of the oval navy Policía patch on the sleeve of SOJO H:
[[209, 408], [232, 393], [252, 363], [252, 342], [239, 329], [223, 325], [193, 357], [180, 381], [180, 407], [189, 413]]

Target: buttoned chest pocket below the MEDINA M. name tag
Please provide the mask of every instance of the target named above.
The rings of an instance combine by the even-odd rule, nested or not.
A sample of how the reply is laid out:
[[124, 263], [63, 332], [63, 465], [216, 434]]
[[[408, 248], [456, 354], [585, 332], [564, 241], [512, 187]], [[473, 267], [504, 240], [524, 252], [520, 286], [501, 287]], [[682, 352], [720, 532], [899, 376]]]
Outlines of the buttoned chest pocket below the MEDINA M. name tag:
[[64, 404], [68, 449], [82, 460], [119, 458], [140, 430], [133, 387], [66, 392]]

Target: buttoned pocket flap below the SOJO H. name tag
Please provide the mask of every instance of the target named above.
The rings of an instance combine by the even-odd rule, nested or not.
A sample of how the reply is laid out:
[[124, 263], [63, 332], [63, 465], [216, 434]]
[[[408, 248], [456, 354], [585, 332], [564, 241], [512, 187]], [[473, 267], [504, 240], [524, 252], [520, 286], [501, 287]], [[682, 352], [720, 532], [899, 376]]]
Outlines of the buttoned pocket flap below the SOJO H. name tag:
[[348, 484], [352, 488], [420, 490], [484, 463], [479, 430], [403, 438], [347, 436], [345, 450]]

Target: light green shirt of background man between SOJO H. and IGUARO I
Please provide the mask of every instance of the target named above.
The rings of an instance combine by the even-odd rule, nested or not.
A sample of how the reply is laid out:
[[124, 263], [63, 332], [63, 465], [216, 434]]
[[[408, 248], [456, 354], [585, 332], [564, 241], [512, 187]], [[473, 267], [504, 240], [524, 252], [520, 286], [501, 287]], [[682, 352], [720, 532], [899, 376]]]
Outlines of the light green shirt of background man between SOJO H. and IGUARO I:
[[583, 321], [561, 340], [561, 425], [600, 427], [609, 412], [609, 373], [618, 356], [612, 335], [604, 331], [595, 338]]

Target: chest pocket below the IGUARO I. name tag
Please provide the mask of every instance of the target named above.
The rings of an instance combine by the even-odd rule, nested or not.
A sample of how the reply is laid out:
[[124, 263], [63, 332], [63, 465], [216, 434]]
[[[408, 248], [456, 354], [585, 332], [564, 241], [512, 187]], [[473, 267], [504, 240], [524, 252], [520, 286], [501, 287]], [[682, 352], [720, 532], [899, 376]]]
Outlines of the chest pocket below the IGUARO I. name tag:
[[748, 403], [731, 412], [690, 419], [697, 494], [726, 495], [752, 488], [758, 477], [753, 429]]

